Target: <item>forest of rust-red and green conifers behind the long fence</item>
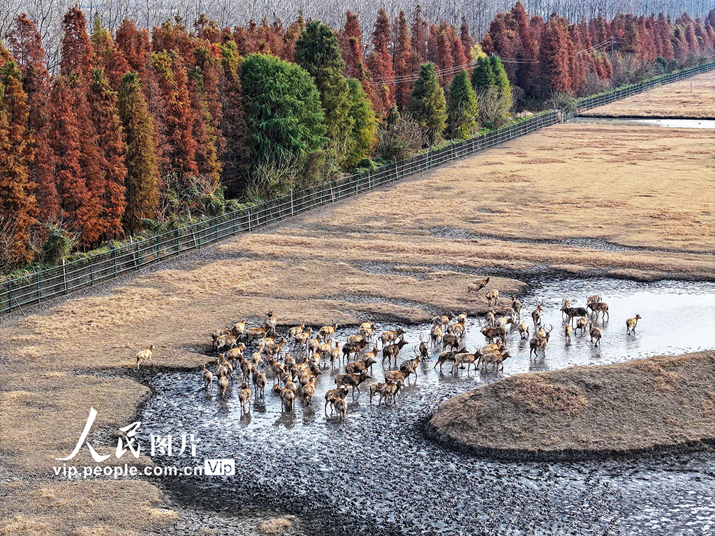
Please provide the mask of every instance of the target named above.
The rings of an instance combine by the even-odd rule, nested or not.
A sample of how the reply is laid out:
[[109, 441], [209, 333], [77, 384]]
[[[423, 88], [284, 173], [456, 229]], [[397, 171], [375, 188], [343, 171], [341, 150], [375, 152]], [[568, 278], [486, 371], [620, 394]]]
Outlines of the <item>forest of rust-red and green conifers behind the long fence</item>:
[[[364, 21], [363, 21], [364, 24]], [[26, 14], [0, 41], [0, 272], [54, 264], [710, 61], [715, 10], [568, 21], [416, 6], [361, 26], [199, 15], [114, 31], [71, 7], [58, 61]]]

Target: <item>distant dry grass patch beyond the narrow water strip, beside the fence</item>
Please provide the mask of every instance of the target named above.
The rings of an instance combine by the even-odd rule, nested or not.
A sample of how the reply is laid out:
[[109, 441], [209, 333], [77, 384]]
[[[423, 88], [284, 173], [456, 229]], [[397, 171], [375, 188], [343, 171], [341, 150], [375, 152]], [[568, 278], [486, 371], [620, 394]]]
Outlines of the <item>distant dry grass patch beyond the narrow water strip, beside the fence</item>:
[[715, 119], [715, 71], [598, 106], [588, 110], [586, 115]]

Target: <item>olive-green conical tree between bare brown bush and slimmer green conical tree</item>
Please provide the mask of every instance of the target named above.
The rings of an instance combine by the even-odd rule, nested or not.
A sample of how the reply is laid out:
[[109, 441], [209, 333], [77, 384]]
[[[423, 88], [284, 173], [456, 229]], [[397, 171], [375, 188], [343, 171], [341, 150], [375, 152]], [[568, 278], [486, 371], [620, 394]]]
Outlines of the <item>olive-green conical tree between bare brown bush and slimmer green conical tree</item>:
[[435, 65], [423, 64], [406, 110], [422, 126], [430, 145], [442, 138], [447, 121], [446, 107], [445, 94], [437, 79]]

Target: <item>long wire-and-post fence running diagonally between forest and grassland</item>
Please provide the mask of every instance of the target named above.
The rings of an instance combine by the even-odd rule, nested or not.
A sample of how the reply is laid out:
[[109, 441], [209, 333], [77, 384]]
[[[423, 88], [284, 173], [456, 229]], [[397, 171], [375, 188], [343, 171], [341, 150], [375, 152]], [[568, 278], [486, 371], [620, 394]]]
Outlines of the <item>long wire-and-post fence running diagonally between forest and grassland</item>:
[[[655, 86], [669, 84], [711, 69], [715, 69], [715, 62], [659, 76], [642, 84], [610, 91], [608, 94], [578, 99], [576, 112], [608, 104]], [[387, 164], [373, 171], [352, 174], [333, 182], [297, 190], [262, 204], [204, 219], [187, 227], [157, 234], [122, 247], [115, 247], [108, 252], [92, 254], [72, 262], [63, 262], [57, 267], [37, 270], [34, 274], [11, 279], [0, 285], [0, 313], [69, 294], [74, 290], [113, 279], [226, 237], [280, 222], [295, 214], [496, 147], [511, 139], [542, 129], [544, 126], [566, 121], [571, 116], [572, 113], [568, 110], [546, 111], [463, 142], [450, 144], [441, 149], [430, 149], [402, 162]]]

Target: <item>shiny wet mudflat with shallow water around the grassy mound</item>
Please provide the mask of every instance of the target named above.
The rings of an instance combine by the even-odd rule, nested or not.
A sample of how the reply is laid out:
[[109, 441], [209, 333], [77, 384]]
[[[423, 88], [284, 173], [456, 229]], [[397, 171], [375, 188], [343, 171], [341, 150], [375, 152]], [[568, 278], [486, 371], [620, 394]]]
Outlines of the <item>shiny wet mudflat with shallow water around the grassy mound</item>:
[[[601, 348], [574, 336], [567, 346], [561, 332], [562, 297], [583, 305], [601, 294], [611, 309]], [[294, 513], [318, 535], [488, 534], [703, 534], [715, 525], [715, 455], [638, 457], [605, 462], [516, 463], [464, 455], [426, 439], [422, 425], [444, 399], [484, 382], [529, 370], [573, 364], [607, 364], [654, 354], [681, 354], [715, 347], [715, 285], [639, 284], [620, 280], [531, 282], [520, 297], [524, 319], [543, 299], [544, 321], [553, 324], [546, 357], [530, 360], [528, 342], [516, 329], [513, 355], [503, 372], [433, 369], [437, 351], [420, 364], [394, 406], [370, 404], [365, 391], [382, 381], [380, 363], [351, 399], [347, 420], [323, 411], [323, 395], [335, 387], [326, 369], [317, 381], [312, 407], [296, 403], [282, 413], [275, 395], [256, 399], [242, 415], [237, 391], [225, 401], [201, 388], [199, 374], [158, 374], [154, 396], [140, 418], [144, 433], [194, 432], [202, 442], [197, 460], [235, 458], [232, 477], [171, 479], [178, 500], [235, 515], [247, 510]], [[309, 307], [310, 304], [307, 304]], [[625, 319], [641, 314], [635, 336]], [[280, 312], [276, 311], [280, 319]], [[482, 319], [468, 319], [468, 349], [484, 344]], [[378, 326], [392, 329], [392, 325]], [[428, 326], [410, 327], [401, 359]], [[352, 329], [340, 329], [342, 343]], [[198, 359], [201, 359], [198, 357]], [[270, 382], [270, 379], [269, 379]], [[173, 459], [172, 459], [173, 460]], [[167, 461], [167, 463], [169, 463]]]

